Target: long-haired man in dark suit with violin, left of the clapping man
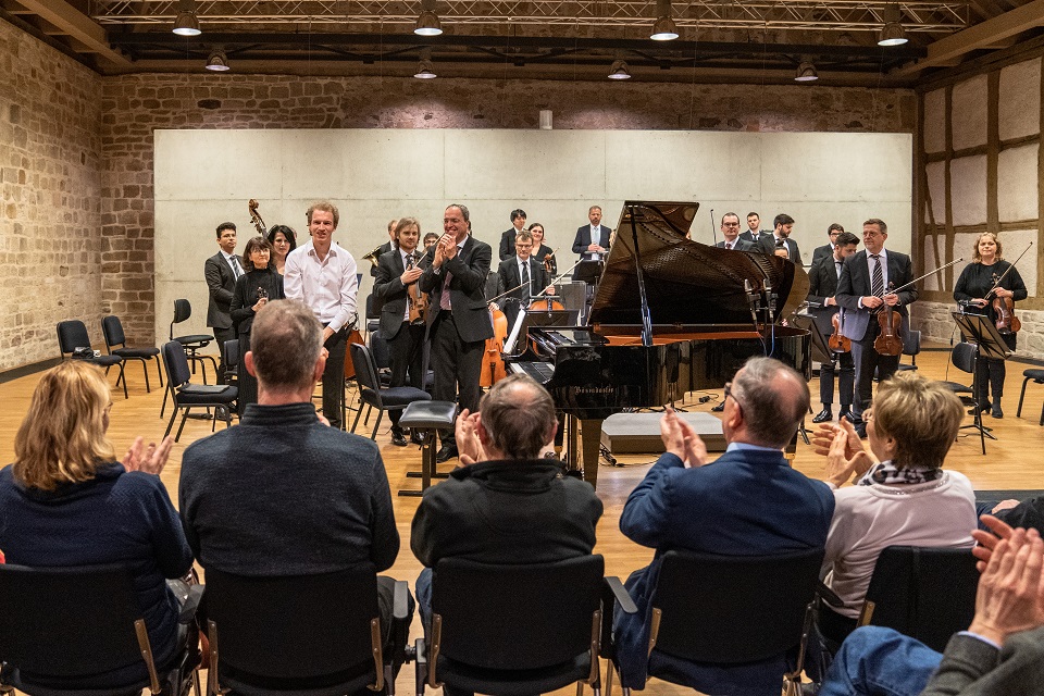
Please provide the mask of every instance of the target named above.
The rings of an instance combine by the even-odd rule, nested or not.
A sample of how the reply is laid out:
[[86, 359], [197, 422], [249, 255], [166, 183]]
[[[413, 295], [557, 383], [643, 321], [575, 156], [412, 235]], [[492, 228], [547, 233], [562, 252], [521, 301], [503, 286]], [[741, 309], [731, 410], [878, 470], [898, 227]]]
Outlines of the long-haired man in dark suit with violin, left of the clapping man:
[[[421, 225], [414, 217], [403, 217], [396, 223], [395, 246], [377, 260], [377, 275], [373, 283], [374, 300], [382, 303], [381, 336], [388, 341], [391, 358], [393, 387], [409, 384], [424, 388], [424, 321], [410, 321], [408, 294], [415, 291], [421, 277], [421, 253], [417, 245], [421, 239]], [[402, 411], [389, 411], [391, 418], [391, 444], [406, 447], [406, 436], [399, 427]], [[417, 439], [417, 438], [414, 438]]]

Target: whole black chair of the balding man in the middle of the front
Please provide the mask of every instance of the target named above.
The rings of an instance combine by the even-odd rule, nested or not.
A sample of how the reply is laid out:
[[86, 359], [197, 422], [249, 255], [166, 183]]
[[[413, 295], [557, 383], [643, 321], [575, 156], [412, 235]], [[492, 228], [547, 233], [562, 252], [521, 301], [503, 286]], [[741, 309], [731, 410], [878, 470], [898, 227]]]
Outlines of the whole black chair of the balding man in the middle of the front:
[[[431, 635], [418, 641], [418, 696], [425, 683], [498, 696], [572, 683], [598, 693], [613, 601], [604, 571], [601, 556], [534, 566], [438, 561]], [[619, 581], [612, 586], [630, 602]]]

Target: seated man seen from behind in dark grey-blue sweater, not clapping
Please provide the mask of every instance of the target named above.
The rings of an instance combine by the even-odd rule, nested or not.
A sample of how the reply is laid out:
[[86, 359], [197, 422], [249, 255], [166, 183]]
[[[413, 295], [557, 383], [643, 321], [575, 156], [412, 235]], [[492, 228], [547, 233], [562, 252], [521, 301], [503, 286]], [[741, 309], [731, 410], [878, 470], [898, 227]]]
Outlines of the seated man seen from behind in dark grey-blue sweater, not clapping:
[[[204, 569], [261, 576], [363, 561], [389, 568], [399, 533], [381, 452], [371, 439], [330, 427], [311, 402], [326, 364], [312, 311], [296, 300], [265, 304], [243, 360], [258, 378], [258, 402], [237, 427], [182, 458], [178, 508], [196, 559]], [[377, 592], [387, 636], [394, 581], [378, 577]]]

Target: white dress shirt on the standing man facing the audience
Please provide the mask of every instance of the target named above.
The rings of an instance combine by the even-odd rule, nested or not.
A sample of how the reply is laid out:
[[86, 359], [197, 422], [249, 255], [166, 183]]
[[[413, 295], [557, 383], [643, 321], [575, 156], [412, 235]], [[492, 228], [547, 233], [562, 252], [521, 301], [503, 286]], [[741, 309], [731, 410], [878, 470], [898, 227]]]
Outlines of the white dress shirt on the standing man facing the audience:
[[356, 314], [356, 260], [336, 241], [331, 243], [326, 258], [320, 260], [309, 241], [287, 254], [283, 289], [286, 299], [304, 302], [315, 319], [336, 333]]

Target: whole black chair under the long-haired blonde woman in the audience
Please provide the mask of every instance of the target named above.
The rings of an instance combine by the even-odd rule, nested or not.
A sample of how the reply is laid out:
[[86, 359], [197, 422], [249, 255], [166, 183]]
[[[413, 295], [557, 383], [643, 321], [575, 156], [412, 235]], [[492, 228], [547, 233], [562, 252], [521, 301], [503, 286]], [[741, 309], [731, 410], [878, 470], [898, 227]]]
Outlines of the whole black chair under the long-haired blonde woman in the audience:
[[[33, 696], [181, 696], [195, 685], [202, 587], [179, 618], [179, 645], [157, 664], [133, 579], [122, 566], [0, 564], [0, 693]], [[120, 682], [113, 684], [114, 675]]]

